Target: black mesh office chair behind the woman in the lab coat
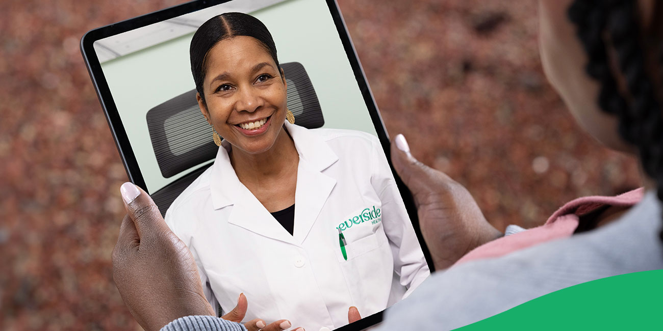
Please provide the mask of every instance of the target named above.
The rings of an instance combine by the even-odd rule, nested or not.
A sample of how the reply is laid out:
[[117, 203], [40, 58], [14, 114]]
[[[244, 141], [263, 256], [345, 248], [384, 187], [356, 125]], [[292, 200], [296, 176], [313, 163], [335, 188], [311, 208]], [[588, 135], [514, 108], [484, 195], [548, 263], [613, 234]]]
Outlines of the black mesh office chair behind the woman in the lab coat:
[[[295, 124], [319, 128], [324, 124], [322, 109], [311, 80], [298, 62], [281, 64], [288, 83], [288, 109]], [[147, 112], [147, 126], [156, 162], [163, 177], [169, 178], [213, 160], [218, 147], [211, 139], [210, 125], [200, 113], [196, 90], [174, 97]], [[152, 193], [162, 215], [186, 187], [211, 164], [198, 167]]]

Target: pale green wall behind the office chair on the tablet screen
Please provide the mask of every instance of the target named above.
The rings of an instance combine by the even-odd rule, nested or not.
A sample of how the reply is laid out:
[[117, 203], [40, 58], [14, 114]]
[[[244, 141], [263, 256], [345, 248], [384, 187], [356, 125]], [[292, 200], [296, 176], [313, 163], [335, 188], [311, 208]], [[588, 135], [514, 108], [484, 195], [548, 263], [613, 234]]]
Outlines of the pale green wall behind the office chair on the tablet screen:
[[[324, 127], [376, 134], [324, 0], [284, 1], [251, 15], [272, 33], [279, 62], [300, 62], [306, 68], [324, 112]], [[195, 88], [188, 54], [192, 36], [101, 65], [150, 192], [180, 177], [162, 177], [145, 115], [152, 107]]]

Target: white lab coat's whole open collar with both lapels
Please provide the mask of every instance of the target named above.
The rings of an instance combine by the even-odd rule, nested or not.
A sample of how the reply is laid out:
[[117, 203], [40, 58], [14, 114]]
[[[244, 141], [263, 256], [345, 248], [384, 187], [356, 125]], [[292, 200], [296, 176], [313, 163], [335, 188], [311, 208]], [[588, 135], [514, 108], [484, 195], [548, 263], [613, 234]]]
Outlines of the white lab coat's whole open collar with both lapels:
[[[230, 164], [231, 146], [221, 143], [211, 173], [211, 199], [214, 209], [235, 205], [228, 222], [253, 232], [292, 244], [301, 244], [308, 235], [320, 210], [336, 184], [335, 179], [322, 171], [334, 164], [338, 157], [325, 140], [307, 128], [285, 123], [299, 154], [297, 189], [295, 193], [295, 227], [290, 235], [258, 199], [237, 178]], [[260, 206], [261, 208], [256, 208]]]

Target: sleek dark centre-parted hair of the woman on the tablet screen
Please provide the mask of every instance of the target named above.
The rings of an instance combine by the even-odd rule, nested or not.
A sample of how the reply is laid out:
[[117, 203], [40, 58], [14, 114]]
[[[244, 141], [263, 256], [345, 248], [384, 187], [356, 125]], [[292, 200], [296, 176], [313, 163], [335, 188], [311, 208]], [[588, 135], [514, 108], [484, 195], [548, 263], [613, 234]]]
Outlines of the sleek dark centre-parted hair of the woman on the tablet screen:
[[212, 17], [198, 28], [189, 48], [191, 73], [194, 75], [196, 90], [202, 97], [203, 103], [205, 103], [203, 82], [208, 69], [208, 53], [221, 40], [235, 36], [249, 36], [258, 40], [276, 63], [276, 68], [280, 70], [274, 38], [259, 19], [244, 13], [224, 13]]

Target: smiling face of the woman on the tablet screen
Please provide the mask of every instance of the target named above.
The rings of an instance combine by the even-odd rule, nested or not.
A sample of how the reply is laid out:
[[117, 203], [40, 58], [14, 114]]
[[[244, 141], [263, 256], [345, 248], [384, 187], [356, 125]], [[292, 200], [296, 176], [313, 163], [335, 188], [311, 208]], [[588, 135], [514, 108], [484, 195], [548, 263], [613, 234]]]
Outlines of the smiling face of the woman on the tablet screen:
[[269, 150], [286, 118], [286, 83], [265, 47], [249, 36], [221, 40], [207, 64], [206, 106], [198, 95], [205, 118], [233, 148]]

